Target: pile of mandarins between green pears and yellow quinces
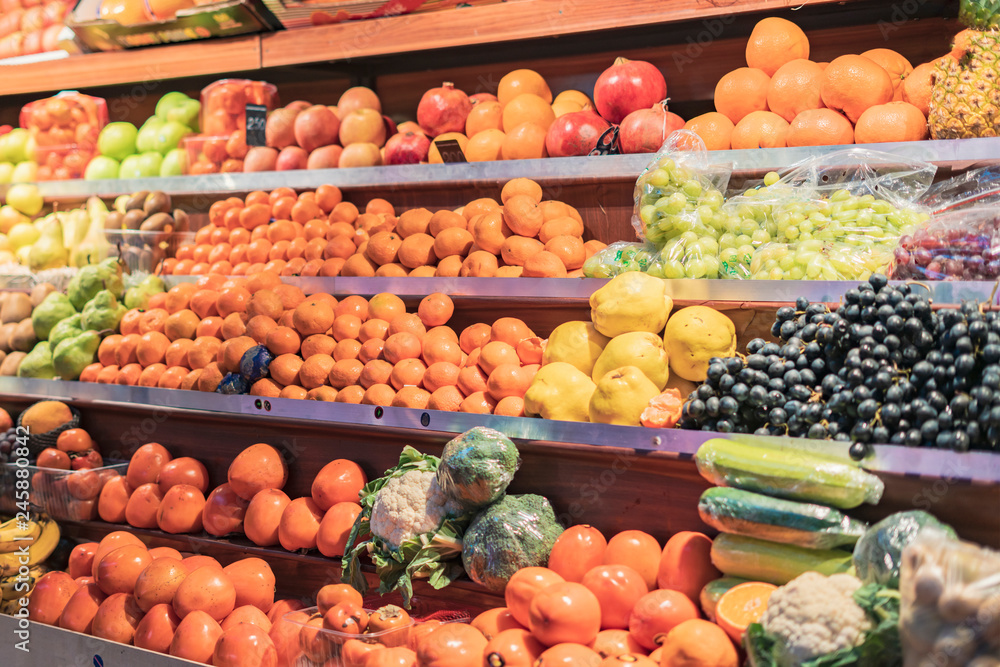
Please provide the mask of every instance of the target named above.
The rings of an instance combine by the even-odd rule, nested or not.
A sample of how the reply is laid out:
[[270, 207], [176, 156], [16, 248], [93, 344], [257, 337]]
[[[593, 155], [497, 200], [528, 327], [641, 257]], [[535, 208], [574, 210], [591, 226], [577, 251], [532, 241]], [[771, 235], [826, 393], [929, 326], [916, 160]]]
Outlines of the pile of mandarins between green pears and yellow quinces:
[[84, 382], [215, 391], [264, 345], [274, 360], [254, 396], [521, 416], [542, 359], [542, 339], [501, 317], [457, 332], [454, 303], [425, 297], [306, 296], [273, 272], [210, 274], [132, 309], [107, 336]]

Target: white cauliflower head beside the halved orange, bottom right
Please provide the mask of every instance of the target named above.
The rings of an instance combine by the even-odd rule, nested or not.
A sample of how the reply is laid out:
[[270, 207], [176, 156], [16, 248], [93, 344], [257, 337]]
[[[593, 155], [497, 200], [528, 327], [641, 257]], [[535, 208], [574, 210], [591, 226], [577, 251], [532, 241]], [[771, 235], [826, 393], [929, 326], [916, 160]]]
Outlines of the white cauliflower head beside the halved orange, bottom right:
[[761, 624], [782, 640], [781, 664], [794, 667], [860, 645], [872, 627], [854, 601], [860, 587], [861, 580], [849, 574], [806, 572], [774, 591]]

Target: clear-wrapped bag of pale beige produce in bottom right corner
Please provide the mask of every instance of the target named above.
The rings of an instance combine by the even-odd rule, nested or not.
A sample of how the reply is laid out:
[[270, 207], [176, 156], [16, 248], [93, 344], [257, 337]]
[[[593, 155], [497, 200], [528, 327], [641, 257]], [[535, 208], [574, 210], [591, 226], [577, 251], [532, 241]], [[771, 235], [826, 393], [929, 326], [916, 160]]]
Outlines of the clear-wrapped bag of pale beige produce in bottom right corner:
[[904, 667], [1000, 661], [1000, 553], [928, 529], [903, 551]]

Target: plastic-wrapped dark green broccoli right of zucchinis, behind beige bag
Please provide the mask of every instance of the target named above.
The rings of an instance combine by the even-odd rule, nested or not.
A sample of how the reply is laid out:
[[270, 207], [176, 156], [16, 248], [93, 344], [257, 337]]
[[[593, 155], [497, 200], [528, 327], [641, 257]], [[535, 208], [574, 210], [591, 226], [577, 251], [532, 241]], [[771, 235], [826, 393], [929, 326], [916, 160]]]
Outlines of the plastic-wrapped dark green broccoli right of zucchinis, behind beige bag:
[[866, 584], [899, 585], [903, 549], [924, 530], [937, 530], [955, 537], [951, 526], [920, 510], [897, 512], [865, 531], [854, 545], [854, 569]]

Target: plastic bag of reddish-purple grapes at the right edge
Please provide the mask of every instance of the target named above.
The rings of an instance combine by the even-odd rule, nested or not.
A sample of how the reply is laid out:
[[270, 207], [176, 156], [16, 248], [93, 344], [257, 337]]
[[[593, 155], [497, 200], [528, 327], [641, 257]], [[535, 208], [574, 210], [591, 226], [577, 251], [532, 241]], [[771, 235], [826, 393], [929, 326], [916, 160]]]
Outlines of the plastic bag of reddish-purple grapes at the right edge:
[[1000, 205], [934, 216], [899, 239], [894, 280], [996, 280], [1000, 276]]

